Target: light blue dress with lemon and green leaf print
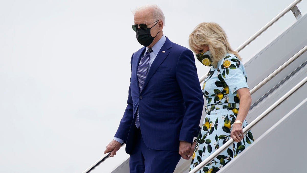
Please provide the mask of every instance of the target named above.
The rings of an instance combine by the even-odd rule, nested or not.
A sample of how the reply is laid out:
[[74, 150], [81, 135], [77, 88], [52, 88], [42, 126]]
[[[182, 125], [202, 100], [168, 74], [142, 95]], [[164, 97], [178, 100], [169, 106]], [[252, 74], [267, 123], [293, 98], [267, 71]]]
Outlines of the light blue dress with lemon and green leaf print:
[[[190, 170], [230, 139], [231, 127], [238, 115], [240, 103], [236, 91], [248, 88], [246, 81], [245, 68], [234, 54], [227, 54], [218, 62], [217, 68], [211, 66], [203, 85], [207, 115], [198, 134]], [[243, 127], [246, 126], [247, 122], [244, 120]], [[241, 142], [224, 150], [200, 172], [219, 171], [253, 141], [253, 135], [249, 131]]]

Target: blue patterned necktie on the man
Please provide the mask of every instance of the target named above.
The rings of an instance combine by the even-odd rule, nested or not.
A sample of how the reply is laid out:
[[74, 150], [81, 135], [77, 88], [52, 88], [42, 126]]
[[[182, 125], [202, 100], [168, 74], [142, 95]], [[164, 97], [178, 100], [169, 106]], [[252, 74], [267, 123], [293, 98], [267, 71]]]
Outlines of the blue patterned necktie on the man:
[[[138, 64], [138, 85], [140, 87], [140, 92], [142, 92], [143, 90], [143, 86], [145, 83], [145, 79], [146, 79], [146, 74], [147, 74], [147, 70], [148, 70], [148, 63], [150, 60], [150, 56], [149, 54], [152, 52], [153, 50], [151, 48], [149, 48], [146, 52], [146, 54], [144, 54], [144, 56], [141, 58], [140, 63]], [[137, 128], [140, 127], [140, 119], [138, 116], [138, 112], [135, 118], [135, 126]]]

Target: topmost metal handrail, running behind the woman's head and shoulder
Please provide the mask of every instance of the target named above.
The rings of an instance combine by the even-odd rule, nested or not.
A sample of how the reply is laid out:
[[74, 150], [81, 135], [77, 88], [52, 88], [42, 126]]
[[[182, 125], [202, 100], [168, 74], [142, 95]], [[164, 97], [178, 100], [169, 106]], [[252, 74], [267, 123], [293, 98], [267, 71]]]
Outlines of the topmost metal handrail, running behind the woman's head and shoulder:
[[[265, 26], [263, 26], [260, 30], [258, 30], [254, 35], [248, 38], [243, 44], [241, 44], [235, 51], [240, 52], [244, 47], [249, 45], [252, 41], [254, 41], [260, 34], [262, 34], [265, 30], [267, 30], [270, 26], [272, 26], [276, 21], [278, 21], [282, 16], [288, 13], [294, 6], [296, 6], [302, 0], [295, 0], [289, 6], [287, 6], [282, 12], [280, 12], [276, 17], [274, 17], [270, 22], [268, 22]], [[199, 78], [199, 82], [203, 82], [207, 75], [203, 75]]]

